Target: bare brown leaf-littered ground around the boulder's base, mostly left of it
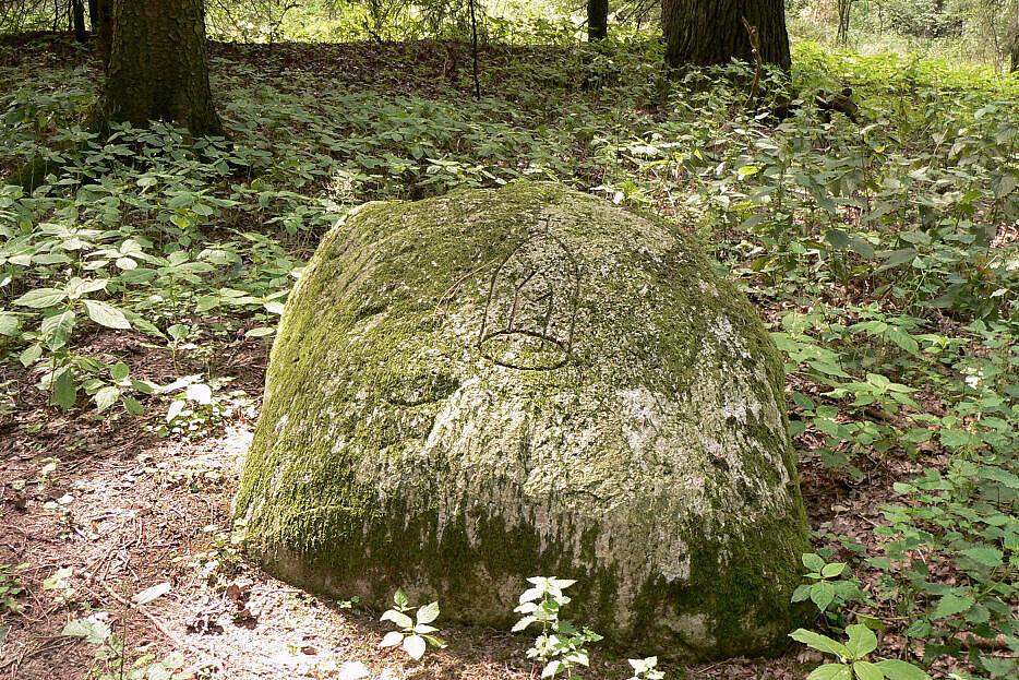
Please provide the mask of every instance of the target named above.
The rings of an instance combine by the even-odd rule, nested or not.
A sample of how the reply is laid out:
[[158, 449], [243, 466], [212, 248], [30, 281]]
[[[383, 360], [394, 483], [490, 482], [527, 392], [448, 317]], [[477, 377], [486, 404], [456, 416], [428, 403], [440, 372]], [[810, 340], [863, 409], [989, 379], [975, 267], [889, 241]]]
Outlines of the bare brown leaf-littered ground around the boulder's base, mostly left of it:
[[[177, 374], [169, 353], [143, 337], [115, 343], [100, 333], [93, 343], [97, 354], [128, 360], [133, 374], [155, 382]], [[523, 634], [443, 624], [448, 647], [415, 664], [377, 647], [385, 632], [380, 612], [309, 595], [244, 561], [230, 540], [230, 503], [266, 353], [263, 341], [235, 338], [213, 355], [221, 358], [220, 374], [252, 399], [196, 441], [154, 434], [165, 415], [157, 409], [97, 422], [85, 413], [61, 414], [32, 389], [14, 395], [15, 409], [0, 423], [0, 564], [29, 564], [22, 573], [29, 599], [24, 616], [7, 618], [0, 678], [48, 680], [55, 669], [61, 678], [88, 677], [94, 646], [61, 630], [89, 612], [107, 612], [129, 664], [179, 651], [195, 677], [538, 677]], [[179, 361], [184, 372], [205, 368], [201, 359]], [[50, 462], [56, 467], [44, 473]], [[889, 500], [873, 492], [889, 484], [834, 484], [823, 468], [802, 468], [801, 485], [813, 526], [828, 523], [861, 538]], [[47, 585], [58, 570], [70, 570], [68, 577]], [[170, 585], [167, 595], [129, 606], [161, 583]], [[803, 678], [804, 661], [817, 660], [791, 645], [777, 659], [663, 667], [690, 678], [791, 680]], [[627, 676], [616, 655], [598, 649], [592, 663], [584, 677]]]

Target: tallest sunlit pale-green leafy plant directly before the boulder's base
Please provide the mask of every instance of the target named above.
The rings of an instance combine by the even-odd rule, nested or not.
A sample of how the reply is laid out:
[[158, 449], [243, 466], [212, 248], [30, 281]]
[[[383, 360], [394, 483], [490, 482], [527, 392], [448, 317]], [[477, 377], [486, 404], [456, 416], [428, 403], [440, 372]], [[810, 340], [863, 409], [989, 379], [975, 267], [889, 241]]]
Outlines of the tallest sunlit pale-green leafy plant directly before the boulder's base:
[[513, 631], [519, 632], [534, 623], [539, 624], [541, 634], [527, 651], [527, 657], [544, 664], [542, 678], [551, 678], [564, 671], [567, 678], [573, 678], [576, 667], [590, 666], [587, 645], [602, 640], [589, 628], [578, 631], [573, 623], [559, 618], [560, 610], [570, 603], [570, 597], [563, 590], [576, 581], [555, 576], [531, 576], [527, 581], [532, 587], [524, 590], [520, 604], [514, 609], [524, 616], [514, 624]]

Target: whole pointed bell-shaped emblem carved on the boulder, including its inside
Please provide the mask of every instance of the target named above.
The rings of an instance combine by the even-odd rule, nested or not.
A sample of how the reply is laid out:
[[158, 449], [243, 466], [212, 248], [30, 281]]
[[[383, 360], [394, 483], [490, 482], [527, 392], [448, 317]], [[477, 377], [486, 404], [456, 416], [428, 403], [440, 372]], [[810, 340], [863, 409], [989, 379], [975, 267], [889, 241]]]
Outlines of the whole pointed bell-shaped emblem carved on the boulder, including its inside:
[[478, 346], [489, 360], [553, 370], [570, 360], [580, 297], [580, 265], [543, 216], [492, 272]]

